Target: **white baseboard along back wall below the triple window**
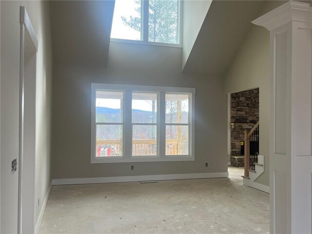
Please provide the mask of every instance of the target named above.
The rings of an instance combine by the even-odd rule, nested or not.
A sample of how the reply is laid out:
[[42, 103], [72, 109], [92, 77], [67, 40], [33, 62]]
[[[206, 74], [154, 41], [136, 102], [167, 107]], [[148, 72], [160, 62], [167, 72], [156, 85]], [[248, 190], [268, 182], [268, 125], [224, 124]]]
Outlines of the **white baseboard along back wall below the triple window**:
[[150, 180], [171, 180], [171, 179], [202, 179], [202, 178], [221, 178], [221, 177], [229, 177], [229, 173], [216, 172], [216, 173], [194, 173], [194, 174], [149, 175], [149, 176], [69, 178], [69, 179], [53, 179], [52, 184], [53, 185], [96, 184], [96, 183], [135, 182], [135, 181], [150, 181]]

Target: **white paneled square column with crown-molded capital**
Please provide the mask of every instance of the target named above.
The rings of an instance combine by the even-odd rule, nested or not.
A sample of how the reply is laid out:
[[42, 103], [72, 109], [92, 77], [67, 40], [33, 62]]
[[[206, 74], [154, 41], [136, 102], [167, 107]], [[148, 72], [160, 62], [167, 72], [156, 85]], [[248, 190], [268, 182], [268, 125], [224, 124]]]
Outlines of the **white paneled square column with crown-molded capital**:
[[253, 21], [270, 31], [271, 233], [312, 233], [312, 7], [289, 1]]

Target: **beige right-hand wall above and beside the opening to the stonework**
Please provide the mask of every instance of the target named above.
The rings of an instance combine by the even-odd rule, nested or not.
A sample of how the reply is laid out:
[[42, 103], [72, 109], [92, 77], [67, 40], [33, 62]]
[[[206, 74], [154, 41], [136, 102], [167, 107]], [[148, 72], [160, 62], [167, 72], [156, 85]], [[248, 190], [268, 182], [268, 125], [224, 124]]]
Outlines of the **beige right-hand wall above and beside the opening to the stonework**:
[[[270, 1], [260, 15], [284, 1]], [[256, 182], [269, 186], [269, 117], [270, 117], [270, 32], [252, 25], [227, 72], [225, 93], [235, 93], [259, 87], [259, 154], [264, 156], [264, 173]]]

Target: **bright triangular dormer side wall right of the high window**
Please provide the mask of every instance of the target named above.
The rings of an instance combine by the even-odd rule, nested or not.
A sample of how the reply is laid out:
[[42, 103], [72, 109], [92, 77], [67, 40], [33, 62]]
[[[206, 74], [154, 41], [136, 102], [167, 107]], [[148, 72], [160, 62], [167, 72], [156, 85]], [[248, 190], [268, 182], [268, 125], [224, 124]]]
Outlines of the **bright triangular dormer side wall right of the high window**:
[[182, 69], [189, 58], [211, 3], [212, 0], [183, 1]]

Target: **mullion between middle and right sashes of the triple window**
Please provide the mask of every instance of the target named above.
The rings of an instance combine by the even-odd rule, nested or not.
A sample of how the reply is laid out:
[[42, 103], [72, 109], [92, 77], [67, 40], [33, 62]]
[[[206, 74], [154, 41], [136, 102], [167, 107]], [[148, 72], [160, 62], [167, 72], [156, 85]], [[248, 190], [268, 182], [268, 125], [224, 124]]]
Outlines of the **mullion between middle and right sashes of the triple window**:
[[166, 100], [165, 92], [159, 93], [159, 125], [158, 125], [158, 154], [164, 158], [166, 154]]

